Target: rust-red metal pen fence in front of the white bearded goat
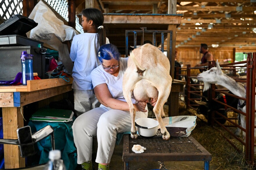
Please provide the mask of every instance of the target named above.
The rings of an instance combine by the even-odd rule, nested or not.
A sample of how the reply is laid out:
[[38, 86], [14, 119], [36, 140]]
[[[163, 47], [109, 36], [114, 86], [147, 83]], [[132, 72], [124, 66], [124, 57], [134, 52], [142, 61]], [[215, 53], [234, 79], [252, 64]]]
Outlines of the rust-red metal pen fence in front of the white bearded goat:
[[[241, 65], [242, 64], [242, 65]], [[216, 63], [209, 62], [209, 65], [206, 69], [210, 69], [211, 67], [215, 67]], [[227, 70], [229, 73], [229, 76], [233, 78], [235, 81], [240, 83], [246, 83], [246, 98], [239, 97], [236, 95], [232, 95], [227, 93], [227, 89], [216, 89], [215, 84], [211, 84], [210, 89], [208, 90], [208, 96], [207, 99], [209, 101], [216, 101], [220, 103], [221, 105], [227, 107], [229, 110], [233, 110], [235, 113], [242, 114], [246, 116], [246, 128], [241, 127], [236, 121], [234, 121], [233, 117], [225, 117], [222, 114], [219, 113], [219, 111], [213, 111], [208, 115], [208, 124], [214, 125], [214, 123], [218, 124], [220, 127], [222, 127], [223, 130], [227, 131], [233, 139], [236, 139], [239, 141], [242, 145], [245, 147], [245, 158], [248, 162], [251, 164], [254, 163], [254, 147], [255, 141], [254, 141], [254, 132], [255, 132], [255, 81], [256, 81], [256, 52], [253, 53], [247, 53], [247, 61], [241, 61], [237, 63], [229, 63], [229, 64], [222, 64], [220, 65], [221, 69], [223, 71]], [[190, 65], [187, 65], [186, 68], [186, 93], [185, 93], [185, 101], [187, 109], [191, 108], [194, 110], [198, 109], [198, 104], [195, 102], [195, 100], [200, 101], [202, 98], [206, 98], [202, 95], [202, 89], [203, 84], [199, 83], [191, 83], [191, 79], [196, 79], [196, 74], [191, 74], [191, 70], [198, 70], [198, 69], [205, 69], [204, 67], [191, 67]], [[246, 75], [246, 78], [239, 78], [236, 76], [237, 73]], [[193, 82], [193, 81], [192, 81]], [[216, 93], [221, 93], [224, 95], [232, 96], [234, 98], [238, 98], [241, 100], [246, 101], [246, 113], [238, 110], [237, 108], [230, 107], [229, 105], [222, 103], [216, 99]], [[222, 125], [217, 120], [218, 118], [215, 117], [215, 114], [218, 114], [221, 116], [222, 119], [225, 119], [229, 122], [231, 125]], [[230, 130], [230, 127], [236, 127], [241, 129], [241, 131], [244, 131], [246, 133], [245, 140], [243, 140], [241, 137], [237, 137], [232, 130]], [[232, 142], [232, 140], [228, 139], [223, 133], [221, 133], [224, 138], [235, 148], [237, 151], [241, 152], [241, 150]]]

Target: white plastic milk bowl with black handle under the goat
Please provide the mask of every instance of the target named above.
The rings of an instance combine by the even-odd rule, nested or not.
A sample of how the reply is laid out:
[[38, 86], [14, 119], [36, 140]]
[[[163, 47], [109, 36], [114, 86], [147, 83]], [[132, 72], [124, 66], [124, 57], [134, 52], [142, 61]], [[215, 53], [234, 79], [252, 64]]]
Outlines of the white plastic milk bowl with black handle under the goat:
[[138, 128], [140, 136], [152, 137], [157, 134], [158, 121], [151, 118], [138, 118], [135, 120], [135, 126]]

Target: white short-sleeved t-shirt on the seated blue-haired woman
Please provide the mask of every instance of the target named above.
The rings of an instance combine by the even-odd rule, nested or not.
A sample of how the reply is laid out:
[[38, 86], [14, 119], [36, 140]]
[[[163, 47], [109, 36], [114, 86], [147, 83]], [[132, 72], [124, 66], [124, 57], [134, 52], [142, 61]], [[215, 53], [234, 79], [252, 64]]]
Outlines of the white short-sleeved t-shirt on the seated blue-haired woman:
[[[128, 58], [120, 58], [120, 69], [117, 77], [107, 73], [106, 71], [104, 71], [102, 65], [99, 65], [91, 73], [93, 87], [96, 87], [99, 84], [106, 83], [112, 98], [126, 102], [123, 95], [122, 84], [125, 70], [127, 69], [127, 62]], [[133, 98], [131, 100], [132, 103], [136, 103], [136, 100], [134, 100]]]

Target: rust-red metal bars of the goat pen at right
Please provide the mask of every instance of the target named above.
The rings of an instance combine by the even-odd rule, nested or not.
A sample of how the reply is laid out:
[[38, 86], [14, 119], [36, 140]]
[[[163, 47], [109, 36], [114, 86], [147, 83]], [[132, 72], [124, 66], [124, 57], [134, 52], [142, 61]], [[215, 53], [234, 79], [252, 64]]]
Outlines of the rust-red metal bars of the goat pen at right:
[[[213, 111], [211, 113], [211, 120], [208, 119], [208, 125], [209, 125], [209, 121], [211, 121], [211, 125], [213, 125], [214, 123], [217, 123], [218, 125], [220, 125], [220, 127], [222, 127], [222, 129], [224, 129], [225, 131], [227, 131], [230, 135], [232, 135], [236, 140], [238, 140], [242, 145], [245, 145], [245, 158], [248, 161], [248, 163], [250, 164], [254, 164], [254, 147], [256, 147], [255, 141], [254, 141], [254, 137], [255, 137], [255, 81], [256, 81], [256, 52], [253, 53], [246, 53], [247, 54], [247, 61], [241, 61], [241, 62], [237, 62], [237, 63], [228, 63], [228, 64], [222, 64], [220, 65], [221, 67], [234, 67], [234, 68], [227, 68], [227, 70], [232, 70], [233, 71], [233, 76], [235, 76], [237, 69], [235, 67], [245, 67], [242, 68], [243, 70], [246, 70], [246, 79], [240, 79], [240, 78], [234, 78], [237, 82], [241, 82], [241, 83], [246, 83], [246, 98], [243, 97], [239, 97], [236, 95], [232, 95], [232, 94], [228, 94], [227, 92], [225, 92], [226, 90], [218, 90], [215, 89], [215, 85], [211, 85], [211, 88], [208, 90], [209, 94], [208, 94], [208, 100], [209, 101], [216, 101], [226, 107], [228, 107], [229, 109], [235, 111], [236, 113], [239, 114], [243, 114], [244, 116], [246, 116], [246, 128], [244, 129], [243, 127], [241, 127], [240, 125], [238, 125], [237, 123], [234, 123], [233, 121], [231, 121], [230, 118], [227, 118], [223, 115], [221, 115], [218, 111]], [[246, 64], [246, 66], [236, 66], [237, 64]], [[212, 63], [208, 66], [208, 69], [210, 69], [211, 67], [215, 66], [215, 63]], [[190, 94], [194, 94], [193, 92], [191, 92], [191, 83], [190, 83], [190, 78], [191, 76], [191, 69], [200, 69], [201, 67], [190, 67], [190, 65], [187, 65], [187, 83], [186, 83], [186, 88], [187, 88], [187, 93], [186, 93], [186, 101], [187, 101], [187, 108], [192, 108], [194, 110], [196, 110], [196, 108], [192, 107], [192, 106], [196, 106], [191, 104], [191, 102], [194, 102], [195, 99], [191, 99], [190, 98]], [[241, 69], [239, 69], [241, 70]], [[233, 78], [233, 77], [232, 77]], [[246, 101], [246, 113], [238, 110], [237, 108], [233, 108], [230, 107], [228, 105], [226, 105], [225, 103], [222, 103], [218, 100], [216, 100], [215, 98], [215, 93], [219, 92], [228, 96], [232, 96], [234, 98], [238, 98], [241, 100]], [[199, 94], [198, 94], [199, 95]], [[209, 98], [209, 96], [211, 96]], [[237, 136], [235, 136], [229, 129], [227, 129], [227, 127], [229, 126], [224, 126], [221, 123], [219, 123], [217, 121], [216, 118], [214, 118], [214, 115], [218, 114], [219, 116], [221, 116], [223, 119], [229, 121], [230, 123], [232, 123], [234, 125], [234, 127], [237, 127], [239, 129], [241, 129], [241, 131], [246, 133], [246, 138], [245, 138], [245, 142], [238, 138]], [[223, 135], [221, 133], [221, 135]], [[228, 138], [225, 138], [227, 140], [227, 142], [230, 143], [230, 145], [232, 145], [237, 151], [241, 152], [234, 144], [231, 140], [229, 140]]]

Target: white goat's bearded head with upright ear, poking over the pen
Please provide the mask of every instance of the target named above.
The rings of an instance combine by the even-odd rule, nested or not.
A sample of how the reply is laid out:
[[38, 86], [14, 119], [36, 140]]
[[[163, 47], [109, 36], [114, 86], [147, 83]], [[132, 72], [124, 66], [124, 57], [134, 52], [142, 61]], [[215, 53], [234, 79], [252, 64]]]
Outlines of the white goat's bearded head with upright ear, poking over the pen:
[[222, 76], [224, 73], [221, 70], [221, 67], [218, 63], [218, 60], [216, 61], [216, 67], [212, 67], [210, 70], [207, 70], [206, 72], [202, 72], [198, 74], [197, 79], [199, 81], [203, 81], [205, 86], [203, 91], [208, 90], [211, 86], [210, 83], [217, 83], [219, 81], [219, 77]]

